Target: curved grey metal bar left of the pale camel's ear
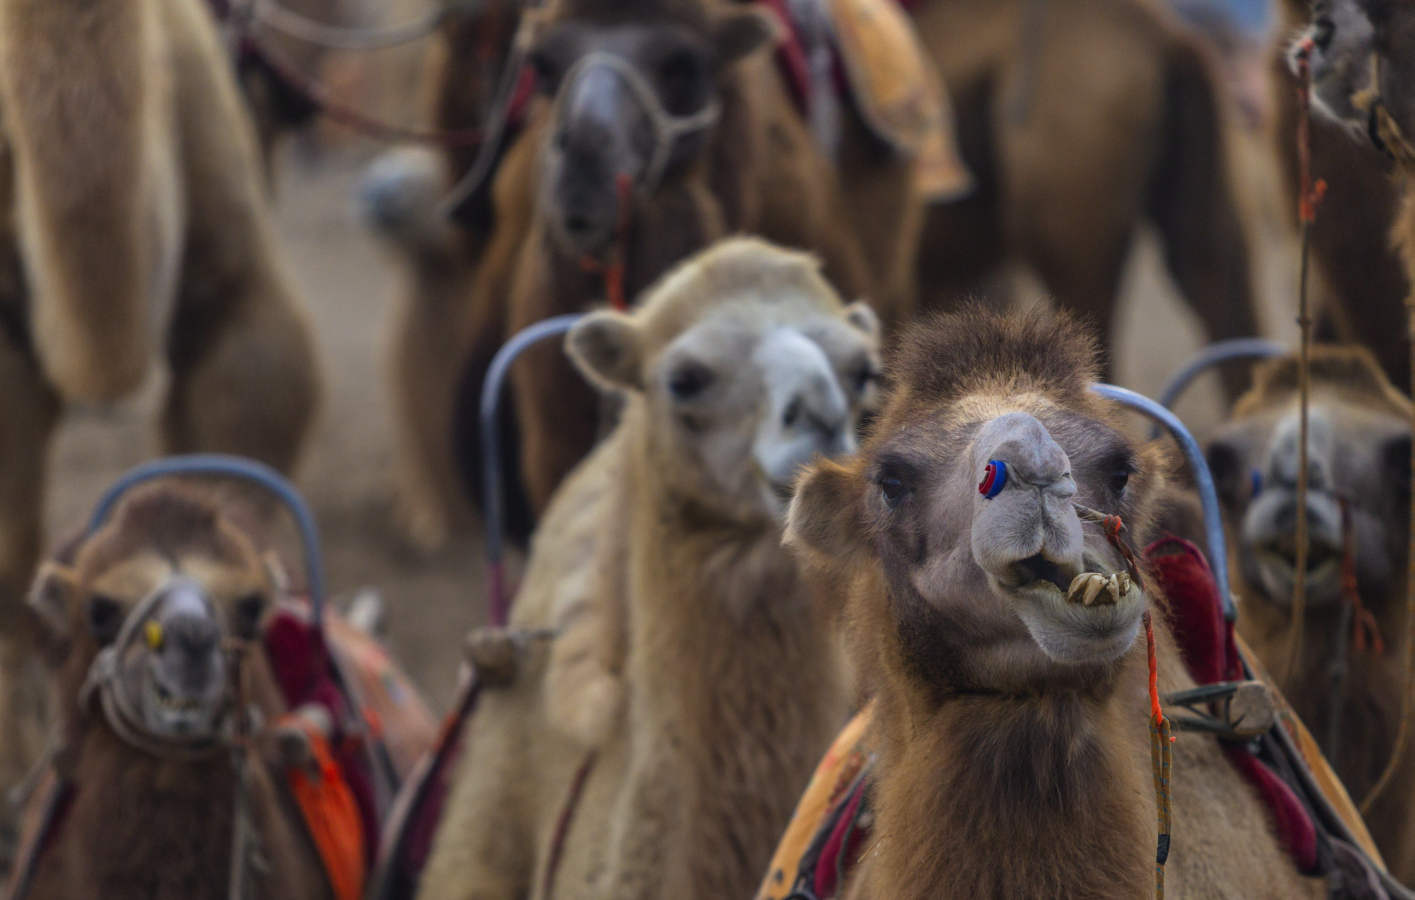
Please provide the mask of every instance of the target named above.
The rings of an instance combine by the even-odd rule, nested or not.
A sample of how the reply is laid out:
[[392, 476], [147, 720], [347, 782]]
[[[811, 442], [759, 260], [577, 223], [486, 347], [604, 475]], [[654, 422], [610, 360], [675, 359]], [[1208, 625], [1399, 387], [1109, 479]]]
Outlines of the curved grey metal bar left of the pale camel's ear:
[[507, 382], [507, 374], [511, 371], [511, 364], [516, 361], [516, 357], [533, 344], [567, 333], [574, 327], [574, 323], [580, 321], [583, 317], [583, 313], [552, 316], [550, 318], [538, 321], [533, 325], [515, 333], [511, 335], [509, 341], [501, 345], [497, 355], [491, 358], [491, 365], [487, 367], [487, 379], [481, 382], [478, 426], [481, 429], [481, 487], [483, 504], [485, 507], [483, 517], [485, 519], [484, 528], [487, 529], [487, 565], [491, 576], [491, 597], [487, 618], [492, 625], [507, 624], [507, 614], [511, 610], [501, 566], [505, 517], [505, 497], [501, 491], [502, 467], [499, 419], [501, 395], [504, 393], [502, 386]]

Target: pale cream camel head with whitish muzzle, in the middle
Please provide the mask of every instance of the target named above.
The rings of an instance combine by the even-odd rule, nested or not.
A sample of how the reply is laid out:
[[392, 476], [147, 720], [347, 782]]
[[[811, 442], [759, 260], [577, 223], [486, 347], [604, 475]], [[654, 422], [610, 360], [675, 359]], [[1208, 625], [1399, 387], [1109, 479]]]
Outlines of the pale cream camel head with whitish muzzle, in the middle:
[[599, 386], [648, 417], [648, 460], [678, 500], [732, 519], [780, 519], [799, 468], [855, 450], [877, 396], [879, 321], [845, 306], [819, 262], [726, 241], [601, 311], [567, 347]]

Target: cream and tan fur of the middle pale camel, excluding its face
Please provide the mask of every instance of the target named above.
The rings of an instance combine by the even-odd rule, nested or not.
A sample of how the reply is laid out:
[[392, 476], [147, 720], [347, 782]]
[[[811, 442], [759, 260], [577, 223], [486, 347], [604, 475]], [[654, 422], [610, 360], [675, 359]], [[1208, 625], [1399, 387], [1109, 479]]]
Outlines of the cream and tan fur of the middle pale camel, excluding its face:
[[[634, 314], [645, 361], [733, 297], [841, 308], [798, 255], [723, 248]], [[555, 896], [747, 896], [845, 715], [829, 617], [780, 525], [676, 474], [654, 437], [664, 415], [631, 393], [556, 492], [512, 617], [558, 637], [468, 723], [424, 899], [548, 896], [555, 822], [590, 754]]]

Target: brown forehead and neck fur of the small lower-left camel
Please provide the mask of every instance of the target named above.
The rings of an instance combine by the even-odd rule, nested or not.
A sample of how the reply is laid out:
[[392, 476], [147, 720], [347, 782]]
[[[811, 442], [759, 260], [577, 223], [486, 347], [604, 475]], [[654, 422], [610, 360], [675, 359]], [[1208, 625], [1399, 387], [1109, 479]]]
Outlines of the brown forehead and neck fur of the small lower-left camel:
[[[201, 577], [218, 601], [229, 603], [232, 592], [253, 587], [270, 592], [266, 569], [243, 533], [208, 502], [171, 485], [130, 495], [110, 524], [75, 548], [75, 553], [72, 560], [50, 563], [69, 573], [72, 582], [67, 582], [62, 610], [67, 634], [47, 634], [67, 648], [55, 674], [55, 691], [65, 710], [59, 733], [71, 742], [69, 774], [78, 788], [52, 843], [40, 858], [30, 896], [226, 897], [235, 821], [231, 760], [225, 753], [197, 763], [157, 760], [119, 740], [96, 705], [81, 708], [78, 691], [98, 652], [85, 624], [85, 608], [95, 590], [125, 604], [136, 603], [134, 596], [160, 583], [151, 579], [164, 577], [168, 565]], [[129, 593], [119, 593], [119, 586]], [[243, 674], [246, 696], [260, 706], [266, 722], [273, 722], [284, 710], [263, 654], [250, 654]], [[262, 897], [331, 896], [299, 814], [282, 797], [284, 773], [255, 747], [248, 753], [252, 824], [267, 863], [266, 873], [258, 873], [252, 887]], [[180, 853], [173, 852], [177, 846]]]

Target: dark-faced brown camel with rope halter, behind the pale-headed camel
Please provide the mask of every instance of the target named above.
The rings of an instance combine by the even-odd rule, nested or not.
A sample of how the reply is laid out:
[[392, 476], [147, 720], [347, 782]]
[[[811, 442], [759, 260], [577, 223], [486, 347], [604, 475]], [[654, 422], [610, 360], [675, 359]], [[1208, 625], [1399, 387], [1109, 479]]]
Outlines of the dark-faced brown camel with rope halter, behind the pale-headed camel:
[[[832, 283], [848, 296], [869, 296], [886, 324], [907, 317], [918, 231], [908, 222], [921, 217], [921, 204], [900, 173], [913, 163], [876, 147], [867, 190], [886, 198], [887, 215], [848, 202], [766, 52], [774, 37], [770, 14], [722, 0], [558, 0], [522, 17], [519, 40], [542, 96], [497, 168], [495, 202], [483, 194], [475, 208], [458, 211], [475, 239], [495, 235], [495, 246], [478, 243], [475, 283], [461, 300], [468, 324], [457, 333], [467, 337], [441, 338], [460, 341], [461, 352], [429, 359], [416, 321], [406, 320], [403, 345], [422, 358], [415, 368], [436, 369], [437, 386], [422, 396], [463, 399], [451, 413], [454, 449], [446, 430], [419, 429], [432, 443], [419, 437], [427, 477], [416, 488], [423, 500], [413, 504], [422, 509], [410, 518], [432, 522], [426, 533], [444, 533], [443, 524], [456, 518], [443, 509], [456, 492], [444, 473], [460, 466], [466, 483], [480, 490], [475, 399], [499, 342], [548, 316], [603, 301], [604, 269], [616, 260], [623, 265], [621, 293], [634, 297], [712, 241], [756, 233], [821, 255]], [[436, 76], [446, 123], [449, 110], [485, 108], [481, 88], [461, 85], [487, 81], [485, 52], [477, 50], [485, 42], [463, 38], [449, 47], [444, 74]], [[468, 67], [481, 74], [456, 81]], [[464, 113], [454, 120], [467, 123]], [[848, 150], [863, 158], [856, 144]], [[464, 166], [451, 160], [444, 171], [460, 174]], [[874, 252], [883, 241], [889, 252]], [[434, 321], [446, 333], [446, 318]], [[413, 383], [410, 375], [405, 379]], [[593, 443], [599, 409], [549, 347], [515, 367], [512, 392], [519, 477], [511, 473], [509, 481], [524, 481], [533, 515]], [[398, 393], [413, 396], [405, 405], [424, 409], [417, 395]]]

